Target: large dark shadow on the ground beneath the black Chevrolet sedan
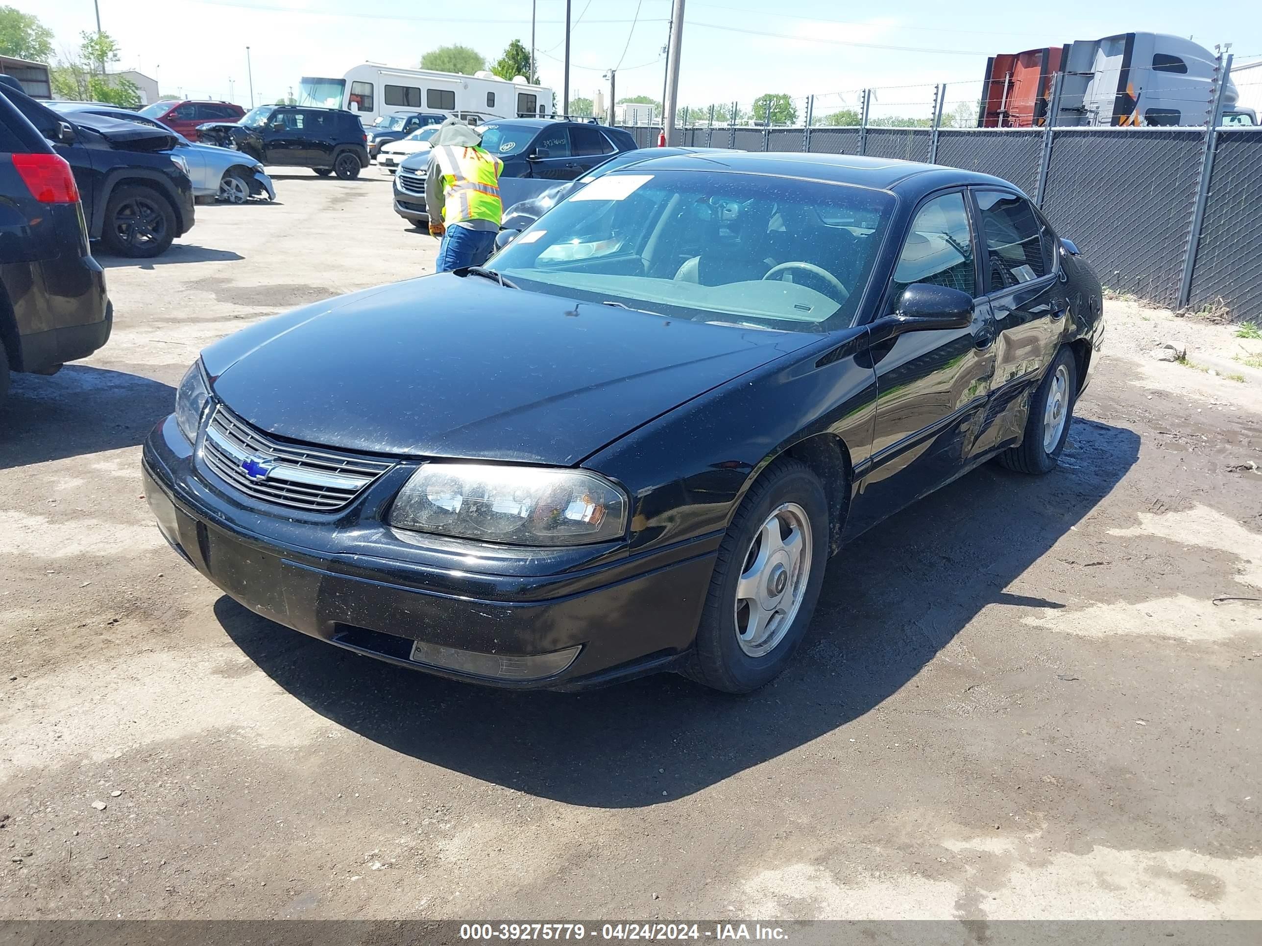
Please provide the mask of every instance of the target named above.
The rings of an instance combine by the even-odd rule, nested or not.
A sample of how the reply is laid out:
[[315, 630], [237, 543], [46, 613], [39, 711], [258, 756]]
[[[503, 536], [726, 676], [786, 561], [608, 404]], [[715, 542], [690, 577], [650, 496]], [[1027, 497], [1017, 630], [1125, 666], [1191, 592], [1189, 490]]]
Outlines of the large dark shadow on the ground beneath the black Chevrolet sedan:
[[1005, 588], [1109, 493], [1138, 447], [1129, 430], [1078, 420], [1049, 476], [987, 464], [861, 536], [832, 560], [794, 663], [748, 696], [673, 675], [587, 694], [505, 692], [348, 653], [227, 597], [215, 612], [281, 687], [404, 756], [575, 805], [652, 805], [863, 715], [988, 604], [1056, 607]]

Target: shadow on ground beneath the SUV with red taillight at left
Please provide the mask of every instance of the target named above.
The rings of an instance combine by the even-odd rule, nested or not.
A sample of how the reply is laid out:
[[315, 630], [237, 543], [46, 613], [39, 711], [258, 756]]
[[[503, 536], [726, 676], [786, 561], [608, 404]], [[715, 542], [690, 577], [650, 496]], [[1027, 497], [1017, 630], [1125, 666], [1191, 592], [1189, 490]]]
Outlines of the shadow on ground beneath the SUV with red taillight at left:
[[0, 469], [135, 447], [175, 404], [169, 385], [88, 365], [11, 381], [0, 409]]

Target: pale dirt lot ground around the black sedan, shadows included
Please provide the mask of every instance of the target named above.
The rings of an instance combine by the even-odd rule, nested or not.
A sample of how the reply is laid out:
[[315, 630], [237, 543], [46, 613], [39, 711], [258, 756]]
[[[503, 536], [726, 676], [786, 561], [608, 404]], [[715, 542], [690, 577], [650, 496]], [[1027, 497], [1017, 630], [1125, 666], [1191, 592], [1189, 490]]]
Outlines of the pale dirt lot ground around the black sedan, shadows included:
[[0, 917], [1262, 918], [1262, 385], [1145, 353], [1203, 325], [1111, 303], [1060, 468], [844, 550], [762, 691], [504, 694], [270, 624], [151, 522], [202, 346], [432, 269], [375, 172], [278, 177], [106, 260], [109, 346], [0, 415]]

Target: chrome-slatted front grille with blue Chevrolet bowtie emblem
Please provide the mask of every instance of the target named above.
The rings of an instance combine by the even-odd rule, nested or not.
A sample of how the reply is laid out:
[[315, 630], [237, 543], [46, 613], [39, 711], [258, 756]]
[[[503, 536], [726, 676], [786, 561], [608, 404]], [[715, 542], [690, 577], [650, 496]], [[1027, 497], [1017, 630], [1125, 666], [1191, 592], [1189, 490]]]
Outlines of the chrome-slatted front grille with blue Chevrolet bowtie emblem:
[[278, 443], [222, 405], [206, 425], [202, 458], [216, 476], [247, 496], [313, 512], [346, 506], [394, 465]]

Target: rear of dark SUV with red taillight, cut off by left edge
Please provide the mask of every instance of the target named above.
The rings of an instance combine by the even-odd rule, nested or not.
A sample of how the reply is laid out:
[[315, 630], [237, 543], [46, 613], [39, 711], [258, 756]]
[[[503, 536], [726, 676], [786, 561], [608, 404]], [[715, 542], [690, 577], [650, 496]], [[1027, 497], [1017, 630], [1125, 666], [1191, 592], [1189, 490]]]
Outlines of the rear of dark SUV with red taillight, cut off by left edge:
[[0, 404], [10, 371], [52, 375], [112, 322], [69, 164], [0, 95]]

